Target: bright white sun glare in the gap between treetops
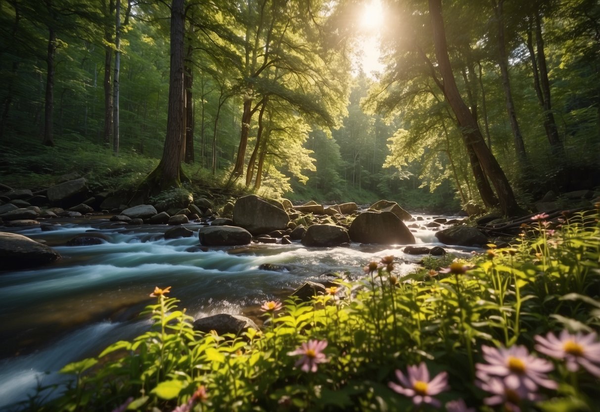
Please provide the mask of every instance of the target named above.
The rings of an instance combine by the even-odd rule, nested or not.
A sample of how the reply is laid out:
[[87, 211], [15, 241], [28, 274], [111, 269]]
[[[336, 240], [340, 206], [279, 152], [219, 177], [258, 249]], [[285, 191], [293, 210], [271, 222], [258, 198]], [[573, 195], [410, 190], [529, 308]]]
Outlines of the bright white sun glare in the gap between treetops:
[[379, 34], [383, 24], [383, 9], [380, 0], [371, 0], [362, 5], [359, 15], [359, 28], [361, 29], [358, 40], [357, 64], [362, 65], [362, 70], [369, 76], [373, 71], [381, 71], [383, 65], [379, 63], [380, 48]]

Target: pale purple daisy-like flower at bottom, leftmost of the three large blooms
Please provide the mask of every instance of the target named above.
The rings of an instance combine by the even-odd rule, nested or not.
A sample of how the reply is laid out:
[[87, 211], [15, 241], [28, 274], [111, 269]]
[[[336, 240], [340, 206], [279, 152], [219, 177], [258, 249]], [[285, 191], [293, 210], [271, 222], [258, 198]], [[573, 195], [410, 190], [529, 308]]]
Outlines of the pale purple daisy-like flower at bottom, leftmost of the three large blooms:
[[440, 401], [431, 396], [449, 389], [448, 374], [440, 372], [440, 374], [437, 374], [435, 378], [430, 380], [429, 370], [425, 366], [425, 362], [421, 362], [418, 366], [409, 366], [406, 376], [400, 369], [396, 369], [396, 377], [400, 381], [400, 385], [389, 382], [388, 386], [394, 392], [412, 398], [415, 405], [429, 404], [439, 408], [441, 405]]

